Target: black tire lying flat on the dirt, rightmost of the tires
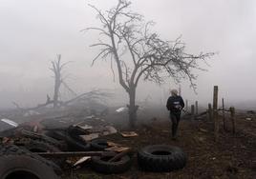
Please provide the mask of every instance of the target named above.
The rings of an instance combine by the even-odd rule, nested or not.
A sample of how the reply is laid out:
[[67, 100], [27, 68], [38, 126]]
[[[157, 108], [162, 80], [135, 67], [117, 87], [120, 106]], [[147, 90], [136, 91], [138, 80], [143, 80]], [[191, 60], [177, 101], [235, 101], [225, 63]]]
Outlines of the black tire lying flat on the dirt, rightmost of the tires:
[[139, 149], [139, 168], [147, 171], [168, 172], [184, 168], [185, 153], [178, 147], [153, 145]]

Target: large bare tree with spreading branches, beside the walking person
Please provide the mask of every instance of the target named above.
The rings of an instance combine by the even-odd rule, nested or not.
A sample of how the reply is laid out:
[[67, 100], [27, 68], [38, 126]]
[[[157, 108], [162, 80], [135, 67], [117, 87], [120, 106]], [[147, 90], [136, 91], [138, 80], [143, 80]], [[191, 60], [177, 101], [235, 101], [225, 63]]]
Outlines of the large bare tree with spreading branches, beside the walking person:
[[[184, 51], [181, 38], [164, 41], [160, 35], [151, 32], [153, 22], [145, 22], [143, 16], [130, 10], [131, 2], [118, 0], [113, 9], [102, 12], [96, 7], [101, 27], [84, 30], [97, 30], [102, 36], [91, 47], [100, 47], [93, 64], [99, 58], [110, 59], [111, 70], [117, 68], [119, 84], [129, 95], [129, 122], [134, 127], [137, 120], [136, 89], [139, 80], [150, 80], [161, 84], [166, 77], [180, 82], [187, 78], [193, 89], [196, 88], [196, 76], [192, 70], [203, 70], [198, 61], [205, 60], [213, 53], [189, 54]], [[129, 55], [129, 56], [128, 56]], [[114, 63], [113, 63], [114, 62]]]

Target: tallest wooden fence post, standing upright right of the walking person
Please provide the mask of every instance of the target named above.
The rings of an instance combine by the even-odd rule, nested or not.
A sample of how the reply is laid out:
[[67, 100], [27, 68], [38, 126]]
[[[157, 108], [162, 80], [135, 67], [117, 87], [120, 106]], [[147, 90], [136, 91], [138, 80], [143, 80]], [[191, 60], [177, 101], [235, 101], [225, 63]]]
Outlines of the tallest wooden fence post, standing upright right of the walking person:
[[214, 138], [219, 138], [219, 117], [218, 117], [218, 86], [213, 89], [213, 120], [214, 120]]

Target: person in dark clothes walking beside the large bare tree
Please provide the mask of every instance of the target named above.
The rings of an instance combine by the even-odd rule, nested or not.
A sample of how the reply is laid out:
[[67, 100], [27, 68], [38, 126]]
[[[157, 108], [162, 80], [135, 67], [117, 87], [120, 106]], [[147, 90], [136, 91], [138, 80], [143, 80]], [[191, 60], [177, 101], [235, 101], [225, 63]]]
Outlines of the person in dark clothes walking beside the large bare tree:
[[166, 108], [170, 111], [172, 121], [172, 139], [177, 139], [177, 130], [181, 120], [181, 109], [184, 108], [184, 102], [177, 89], [171, 90], [171, 96], [167, 100]]

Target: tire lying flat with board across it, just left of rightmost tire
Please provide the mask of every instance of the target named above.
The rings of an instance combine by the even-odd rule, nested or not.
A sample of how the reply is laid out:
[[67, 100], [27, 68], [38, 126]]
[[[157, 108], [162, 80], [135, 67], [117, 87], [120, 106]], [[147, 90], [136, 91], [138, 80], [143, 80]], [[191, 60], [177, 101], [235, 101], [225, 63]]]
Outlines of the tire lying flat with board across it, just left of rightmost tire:
[[131, 168], [132, 160], [130, 156], [125, 155], [117, 162], [108, 162], [115, 154], [109, 156], [92, 157], [92, 168], [101, 173], [121, 173]]

